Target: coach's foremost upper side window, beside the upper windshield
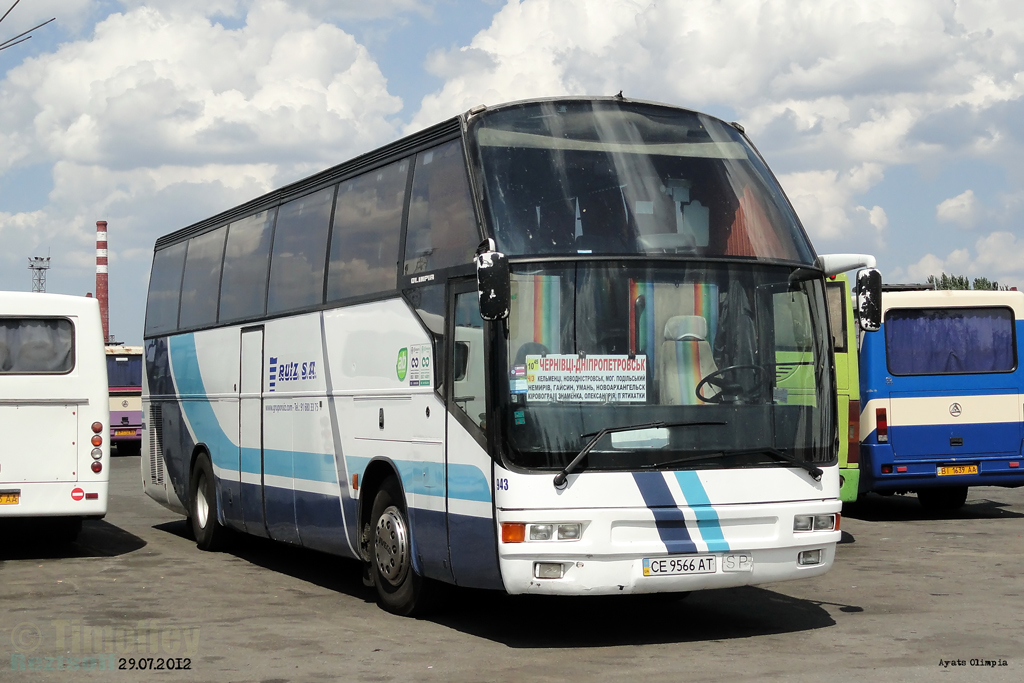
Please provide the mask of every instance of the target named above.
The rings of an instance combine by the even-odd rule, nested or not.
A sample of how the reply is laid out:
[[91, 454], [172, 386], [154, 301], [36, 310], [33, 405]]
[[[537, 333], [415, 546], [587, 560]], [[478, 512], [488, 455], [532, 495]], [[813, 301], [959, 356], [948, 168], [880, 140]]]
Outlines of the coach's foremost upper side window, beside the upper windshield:
[[480, 243], [462, 143], [416, 156], [406, 238], [406, 274], [469, 263]]

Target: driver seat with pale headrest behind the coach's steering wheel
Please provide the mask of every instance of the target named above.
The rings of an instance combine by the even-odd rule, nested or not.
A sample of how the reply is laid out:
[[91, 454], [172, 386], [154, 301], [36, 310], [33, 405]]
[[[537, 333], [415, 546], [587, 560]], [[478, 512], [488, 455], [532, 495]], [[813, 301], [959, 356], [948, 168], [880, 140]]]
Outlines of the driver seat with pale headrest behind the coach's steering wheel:
[[[665, 341], [658, 353], [657, 377], [663, 405], [701, 405], [697, 384], [717, 372], [718, 366], [708, 343], [708, 321], [702, 315], [674, 315], [665, 324]], [[711, 384], [702, 388], [711, 397], [719, 390]]]

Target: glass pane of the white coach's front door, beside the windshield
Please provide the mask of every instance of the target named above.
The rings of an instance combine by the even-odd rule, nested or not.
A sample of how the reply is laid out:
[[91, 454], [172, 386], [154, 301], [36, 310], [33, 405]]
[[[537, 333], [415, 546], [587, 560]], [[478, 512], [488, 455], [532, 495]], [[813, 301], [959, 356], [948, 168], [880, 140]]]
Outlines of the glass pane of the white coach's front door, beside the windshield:
[[483, 321], [476, 292], [459, 294], [455, 300], [455, 354], [452, 401], [478, 427], [486, 418], [483, 367]]

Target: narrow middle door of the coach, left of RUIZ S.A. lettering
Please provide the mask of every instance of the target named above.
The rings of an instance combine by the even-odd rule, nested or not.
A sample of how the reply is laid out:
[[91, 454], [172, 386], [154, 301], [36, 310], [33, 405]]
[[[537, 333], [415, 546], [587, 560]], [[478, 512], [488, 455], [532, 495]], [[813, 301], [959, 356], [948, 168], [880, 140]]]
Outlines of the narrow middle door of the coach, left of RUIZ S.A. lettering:
[[242, 331], [239, 474], [246, 531], [267, 537], [263, 512], [263, 328]]

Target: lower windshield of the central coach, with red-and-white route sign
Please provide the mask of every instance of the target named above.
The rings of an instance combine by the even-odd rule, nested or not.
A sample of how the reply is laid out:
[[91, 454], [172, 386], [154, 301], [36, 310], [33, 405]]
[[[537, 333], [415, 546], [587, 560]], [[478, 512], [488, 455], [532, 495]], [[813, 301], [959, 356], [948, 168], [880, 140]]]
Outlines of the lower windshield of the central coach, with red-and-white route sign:
[[[830, 462], [825, 299], [787, 266], [636, 262], [513, 268], [507, 457], [587, 469]], [[651, 423], [665, 426], [650, 427]], [[679, 463], [685, 463], [679, 465]]]

